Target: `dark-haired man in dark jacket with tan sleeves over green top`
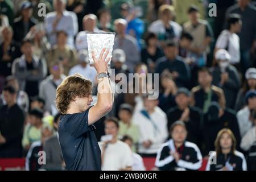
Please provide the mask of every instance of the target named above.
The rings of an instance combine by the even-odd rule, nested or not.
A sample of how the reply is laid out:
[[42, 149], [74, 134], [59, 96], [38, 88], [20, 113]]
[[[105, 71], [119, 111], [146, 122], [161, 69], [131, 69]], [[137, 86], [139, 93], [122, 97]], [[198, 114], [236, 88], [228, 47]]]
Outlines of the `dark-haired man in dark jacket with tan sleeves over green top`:
[[225, 108], [225, 96], [221, 88], [212, 85], [213, 76], [208, 68], [201, 68], [198, 72], [199, 85], [192, 89], [191, 105], [199, 107], [203, 113], [208, 111], [210, 102], [216, 101]]

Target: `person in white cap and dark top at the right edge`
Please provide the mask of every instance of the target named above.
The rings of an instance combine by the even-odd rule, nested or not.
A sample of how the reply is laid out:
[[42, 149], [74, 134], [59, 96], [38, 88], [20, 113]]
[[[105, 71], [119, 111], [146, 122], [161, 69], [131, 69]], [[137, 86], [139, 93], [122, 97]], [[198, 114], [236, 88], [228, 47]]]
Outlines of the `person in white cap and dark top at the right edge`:
[[243, 84], [243, 87], [237, 94], [236, 105], [234, 107], [236, 111], [242, 109], [242, 107], [246, 105], [245, 93], [249, 90], [256, 90], [256, 68], [247, 69], [245, 72], [245, 78], [246, 80]]

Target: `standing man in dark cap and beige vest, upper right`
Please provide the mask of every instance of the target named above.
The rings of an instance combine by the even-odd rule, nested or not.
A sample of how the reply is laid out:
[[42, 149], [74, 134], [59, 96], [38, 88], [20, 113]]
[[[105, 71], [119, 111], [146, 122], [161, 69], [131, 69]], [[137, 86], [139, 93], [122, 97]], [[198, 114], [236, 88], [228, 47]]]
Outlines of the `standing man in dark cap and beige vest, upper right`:
[[209, 53], [209, 44], [213, 39], [213, 30], [210, 27], [207, 20], [200, 19], [199, 9], [195, 5], [191, 5], [188, 11], [188, 22], [185, 22], [183, 29], [189, 32], [193, 41], [190, 47], [190, 51], [193, 54], [193, 69], [195, 72], [192, 75], [196, 75], [197, 69], [204, 67], [207, 64], [207, 54]]

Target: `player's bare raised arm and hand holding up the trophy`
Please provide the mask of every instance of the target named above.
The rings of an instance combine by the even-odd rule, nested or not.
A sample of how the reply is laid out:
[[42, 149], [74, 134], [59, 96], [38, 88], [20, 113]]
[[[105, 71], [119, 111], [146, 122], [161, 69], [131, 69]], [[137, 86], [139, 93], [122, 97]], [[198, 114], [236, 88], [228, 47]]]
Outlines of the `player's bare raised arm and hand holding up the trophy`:
[[[94, 52], [92, 52], [93, 61], [95, 64], [95, 69], [97, 73], [107, 73], [108, 72], [108, 62], [110, 59], [106, 60], [106, 56], [109, 51], [102, 49], [99, 59], [96, 59]], [[105, 61], [106, 60], [106, 61]], [[92, 125], [98, 119], [104, 117], [112, 110], [112, 105], [114, 102], [112, 88], [110, 86], [109, 77], [103, 77], [98, 79], [98, 99], [97, 103], [92, 106], [89, 110], [88, 122]]]

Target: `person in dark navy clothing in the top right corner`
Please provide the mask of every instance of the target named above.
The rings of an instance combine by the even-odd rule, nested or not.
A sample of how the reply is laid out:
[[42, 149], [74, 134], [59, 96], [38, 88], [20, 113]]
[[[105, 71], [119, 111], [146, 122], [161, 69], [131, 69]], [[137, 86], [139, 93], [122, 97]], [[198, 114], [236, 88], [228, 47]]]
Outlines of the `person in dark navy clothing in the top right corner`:
[[251, 5], [250, 0], [237, 1], [236, 5], [226, 10], [226, 18], [230, 14], [239, 14], [242, 19], [242, 29], [238, 34], [240, 38], [240, 55], [242, 73], [251, 67], [252, 57], [256, 47], [256, 7]]

